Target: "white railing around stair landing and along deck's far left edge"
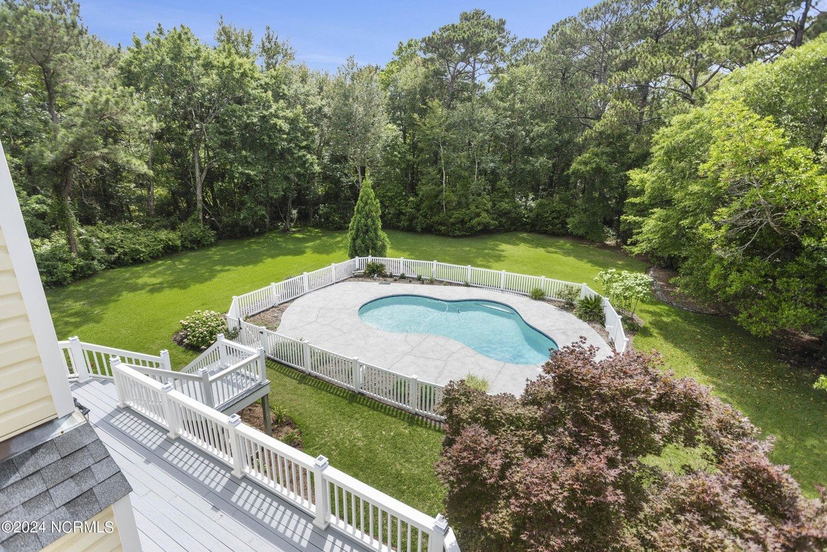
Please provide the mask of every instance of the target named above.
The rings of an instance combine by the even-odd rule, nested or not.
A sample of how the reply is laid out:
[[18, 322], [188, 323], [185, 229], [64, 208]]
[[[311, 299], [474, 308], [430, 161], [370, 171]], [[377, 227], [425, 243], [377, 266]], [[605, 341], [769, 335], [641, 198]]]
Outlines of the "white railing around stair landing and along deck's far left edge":
[[181, 371], [172, 369], [170, 354], [144, 355], [130, 350], [85, 343], [76, 336], [59, 341], [66, 374], [70, 379], [112, 378], [112, 362], [127, 364], [158, 383], [170, 383], [208, 407], [222, 408], [267, 382], [265, 351], [218, 340]]

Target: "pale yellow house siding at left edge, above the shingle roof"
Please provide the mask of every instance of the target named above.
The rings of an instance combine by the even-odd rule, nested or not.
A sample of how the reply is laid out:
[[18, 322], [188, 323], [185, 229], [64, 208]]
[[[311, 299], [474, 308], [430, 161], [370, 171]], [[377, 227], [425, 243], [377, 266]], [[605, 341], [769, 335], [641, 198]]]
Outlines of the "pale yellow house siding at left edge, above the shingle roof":
[[0, 440], [57, 416], [0, 231]]

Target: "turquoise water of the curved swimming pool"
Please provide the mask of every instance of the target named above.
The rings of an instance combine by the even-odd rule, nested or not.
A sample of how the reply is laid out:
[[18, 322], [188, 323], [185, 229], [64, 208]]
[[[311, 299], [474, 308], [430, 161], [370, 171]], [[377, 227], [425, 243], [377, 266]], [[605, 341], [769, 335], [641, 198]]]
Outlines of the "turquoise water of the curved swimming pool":
[[552, 338], [500, 302], [392, 295], [366, 302], [359, 317], [380, 330], [442, 335], [512, 364], [540, 364], [548, 359], [549, 350], [557, 350]]

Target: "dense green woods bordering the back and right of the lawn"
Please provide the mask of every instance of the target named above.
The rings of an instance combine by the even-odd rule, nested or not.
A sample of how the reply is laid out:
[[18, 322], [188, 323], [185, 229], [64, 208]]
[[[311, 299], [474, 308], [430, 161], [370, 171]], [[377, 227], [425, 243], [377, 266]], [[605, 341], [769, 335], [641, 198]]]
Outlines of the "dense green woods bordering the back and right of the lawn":
[[[329, 74], [270, 28], [221, 20], [207, 43], [159, 26], [113, 47], [73, 0], [7, 0], [0, 132], [36, 251], [68, 267], [56, 283], [114, 263], [112, 225], [144, 232], [137, 259], [213, 233], [347, 228], [370, 172], [386, 227], [614, 240], [753, 331], [823, 333], [823, 283], [789, 280], [825, 274], [824, 62], [807, 45], [824, 27], [814, 0], [604, 0], [533, 40], [473, 10], [385, 67]], [[760, 206], [739, 159], [763, 164], [761, 186], [786, 174], [763, 219], [744, 215]], [[153, 233], [185, 222], [203, 239]]]

